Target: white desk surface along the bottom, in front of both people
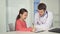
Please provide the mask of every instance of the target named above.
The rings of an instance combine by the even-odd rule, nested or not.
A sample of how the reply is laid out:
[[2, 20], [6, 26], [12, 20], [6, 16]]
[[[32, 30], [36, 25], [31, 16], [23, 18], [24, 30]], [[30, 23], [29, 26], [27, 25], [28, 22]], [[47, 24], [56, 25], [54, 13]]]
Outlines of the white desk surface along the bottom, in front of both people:
[[0, 34], [60, 34], [60, 33], [53, 33], [48, 31], [40, 32], [40, 33], [13, 31], [13, 32], [1, 32]]

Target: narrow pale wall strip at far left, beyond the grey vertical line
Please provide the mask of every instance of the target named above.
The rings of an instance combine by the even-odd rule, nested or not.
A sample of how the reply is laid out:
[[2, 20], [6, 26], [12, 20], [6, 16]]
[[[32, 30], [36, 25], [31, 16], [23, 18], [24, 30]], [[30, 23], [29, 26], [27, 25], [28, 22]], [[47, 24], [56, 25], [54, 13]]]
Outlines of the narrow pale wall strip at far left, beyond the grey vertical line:
[[0, 0], [0, 32], [6, 32], [6, 0]]

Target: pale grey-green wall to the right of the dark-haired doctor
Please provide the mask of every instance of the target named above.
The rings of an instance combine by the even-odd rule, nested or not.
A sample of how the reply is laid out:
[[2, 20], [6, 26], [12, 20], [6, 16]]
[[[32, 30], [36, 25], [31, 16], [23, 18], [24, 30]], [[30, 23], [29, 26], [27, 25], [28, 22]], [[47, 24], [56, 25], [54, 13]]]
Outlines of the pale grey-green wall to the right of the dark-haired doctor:
[[53, 12], [53, 15], [54, 15], [53, 26], [59, 27], [60, 25], [59, 0], [41, 0], [40, 2], [45, 3], [47, 5], [47, 10]]

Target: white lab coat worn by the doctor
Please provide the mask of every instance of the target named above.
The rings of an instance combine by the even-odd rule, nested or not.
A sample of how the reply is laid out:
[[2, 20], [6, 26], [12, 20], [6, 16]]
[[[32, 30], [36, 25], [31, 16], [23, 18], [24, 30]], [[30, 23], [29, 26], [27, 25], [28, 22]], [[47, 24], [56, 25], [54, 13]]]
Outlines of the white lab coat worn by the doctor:
[[37, 31], [47, 30], [51, 27], [53, 20], [53, 14], [51, 12], [45, 12], [44, 16], [40, 17], [39, 13], [35, 13], [34, 27]]

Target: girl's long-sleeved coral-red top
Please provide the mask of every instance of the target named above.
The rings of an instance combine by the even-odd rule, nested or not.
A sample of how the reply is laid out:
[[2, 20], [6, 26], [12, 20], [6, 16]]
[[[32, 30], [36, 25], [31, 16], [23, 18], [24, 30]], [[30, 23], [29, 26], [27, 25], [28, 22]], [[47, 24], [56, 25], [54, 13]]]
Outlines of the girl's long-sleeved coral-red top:
[[28, 31], [28, 32], [31, 32], [32, 28], [27, 28], [26, 22], [21, 21], [20, 19], [18, 19], [16, 21], [16, 31]]

